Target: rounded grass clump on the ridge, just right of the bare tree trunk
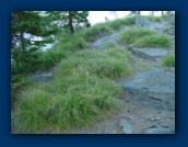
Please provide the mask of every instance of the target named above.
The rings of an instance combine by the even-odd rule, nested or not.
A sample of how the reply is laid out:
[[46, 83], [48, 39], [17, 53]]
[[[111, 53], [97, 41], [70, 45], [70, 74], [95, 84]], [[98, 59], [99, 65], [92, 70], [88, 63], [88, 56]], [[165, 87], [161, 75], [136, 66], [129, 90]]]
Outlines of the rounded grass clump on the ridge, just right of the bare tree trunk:
[[91, 41], [103, 33], [111, 33], [111, 29], [105, 23], [97, 23], [92, 27], [85, 29], [80, 33], [85, 41]]

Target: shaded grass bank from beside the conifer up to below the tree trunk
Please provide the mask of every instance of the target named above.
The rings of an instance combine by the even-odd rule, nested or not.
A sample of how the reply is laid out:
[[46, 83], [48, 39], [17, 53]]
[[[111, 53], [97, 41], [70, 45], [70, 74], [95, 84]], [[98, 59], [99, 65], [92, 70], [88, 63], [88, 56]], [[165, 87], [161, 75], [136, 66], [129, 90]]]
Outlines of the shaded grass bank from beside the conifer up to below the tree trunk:
[[[14, 91], [16, 88], [24, 86], [26, 80], [23, 80], [25, 75], [37, 70], [46, 70], [51, 66], [55, 66], [61, 59], [67, 58], [70, 54], [75, 50], [85, 48], [87, 43], [79, 34], [60, 34], [59, 43], [46, 52], [36, 50], [28, 57], [22, 57], [20, 63], [11, 65], [11, 90]], [[20, 77], [17, 76], [20, 75]]]

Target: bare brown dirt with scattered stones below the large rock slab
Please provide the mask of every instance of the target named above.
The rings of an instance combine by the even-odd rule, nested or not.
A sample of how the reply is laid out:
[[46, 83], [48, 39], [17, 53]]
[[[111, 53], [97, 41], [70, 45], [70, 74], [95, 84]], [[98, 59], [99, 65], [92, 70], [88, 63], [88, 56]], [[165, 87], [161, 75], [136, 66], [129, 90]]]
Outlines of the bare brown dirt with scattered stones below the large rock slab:
[[[152, 110], [127, 98], [122, 98], [121, 103], [121, 109], [105, 120], [96, 121], [92, 127], [73, 129], [71, 134], [144, 134], [149, 128], [175, 129], [174, 112]], [[131, 133], [126, 133], [125, 121], [130, 124]]]

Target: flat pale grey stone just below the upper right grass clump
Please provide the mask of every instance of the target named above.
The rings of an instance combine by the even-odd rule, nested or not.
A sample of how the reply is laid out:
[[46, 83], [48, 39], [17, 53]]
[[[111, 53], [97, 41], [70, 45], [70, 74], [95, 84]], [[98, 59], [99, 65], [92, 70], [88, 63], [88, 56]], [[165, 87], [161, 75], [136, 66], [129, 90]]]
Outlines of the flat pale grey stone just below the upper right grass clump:
[[131, 52], [140, 57], [154, 60], [158, 57], [165, 56], [168, 48], [155, 47], [155, 48], [131, 48]]

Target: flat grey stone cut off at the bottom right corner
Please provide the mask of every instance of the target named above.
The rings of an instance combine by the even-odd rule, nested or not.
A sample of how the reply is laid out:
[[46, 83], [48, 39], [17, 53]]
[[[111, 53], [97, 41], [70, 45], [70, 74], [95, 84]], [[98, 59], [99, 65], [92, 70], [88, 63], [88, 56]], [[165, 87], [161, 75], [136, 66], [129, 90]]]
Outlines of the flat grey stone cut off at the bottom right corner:
[[172, 128], [149, 128], [144, 134], [175, 134]]

